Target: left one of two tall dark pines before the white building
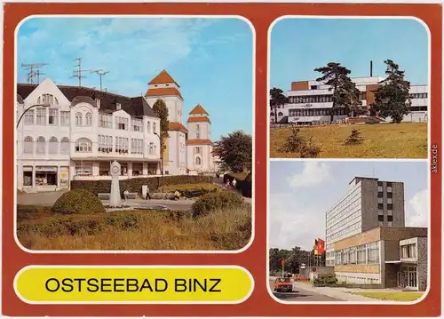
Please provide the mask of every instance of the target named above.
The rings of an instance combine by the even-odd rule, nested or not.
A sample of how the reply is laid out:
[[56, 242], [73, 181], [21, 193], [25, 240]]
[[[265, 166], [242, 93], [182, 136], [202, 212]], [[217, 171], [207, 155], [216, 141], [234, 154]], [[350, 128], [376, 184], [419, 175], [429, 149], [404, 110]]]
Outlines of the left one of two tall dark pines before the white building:
[[361, 114], [360, 91], [350, 78], [351, 71], [348, 68], [337, 62], [329, 62], [326, 67], [315, 68], [314, 71], [322, 74], [316, 81], [329, 85], [329, 91], [333, 91], [330, 123], [333, 122], [333, 116], [340, 114], [341, 108], [345, 108], [346, 114]]

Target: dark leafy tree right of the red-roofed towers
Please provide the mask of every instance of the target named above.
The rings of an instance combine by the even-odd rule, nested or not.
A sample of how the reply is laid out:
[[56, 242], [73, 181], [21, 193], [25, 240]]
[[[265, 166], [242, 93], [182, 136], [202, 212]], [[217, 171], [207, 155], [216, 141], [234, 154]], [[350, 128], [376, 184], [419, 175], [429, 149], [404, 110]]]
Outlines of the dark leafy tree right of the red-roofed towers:
[[242, 131], [228, 133], [214, 143], [223, 171], [251, 171], [253, 141]]

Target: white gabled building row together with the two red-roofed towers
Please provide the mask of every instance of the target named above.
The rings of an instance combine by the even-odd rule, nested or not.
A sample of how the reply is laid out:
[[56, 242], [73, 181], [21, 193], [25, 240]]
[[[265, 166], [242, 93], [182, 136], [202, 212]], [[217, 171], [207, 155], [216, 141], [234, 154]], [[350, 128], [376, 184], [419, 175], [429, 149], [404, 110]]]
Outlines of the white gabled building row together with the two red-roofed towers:
[[[24, 115], [16, 131], [17, 187], [35, 192], [69, 188], [74, 179], [111, 179], [113, 161], [122, 166], [121, 179], [160, 175], [162, 168], [165, 175], [215, 170], [208, 113], [195, 107], [186, 128], [178, 88], [166, 71], [135, 98], [50, 79], [17, 84], [16, 121]], [[160, 119], [152, 109], [158, 99], [170, 121], [163, 165]]]

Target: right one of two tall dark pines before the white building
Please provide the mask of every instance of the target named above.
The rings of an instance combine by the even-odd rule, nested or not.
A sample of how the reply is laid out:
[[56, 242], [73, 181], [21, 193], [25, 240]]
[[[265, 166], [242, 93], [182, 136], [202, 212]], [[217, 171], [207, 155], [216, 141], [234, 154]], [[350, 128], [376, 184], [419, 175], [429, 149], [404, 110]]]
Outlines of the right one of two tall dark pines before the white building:
[[411, 106], [410, 83], [404, 79], [404, 72], [392, 60], [385, 60], [387, 65], [385, 80], [381, 81], [375, 92], [375, 102], [371, 105], [371, 113], [382, 117], [390, 116], [392, 123], [400, 123], [408, 115]]

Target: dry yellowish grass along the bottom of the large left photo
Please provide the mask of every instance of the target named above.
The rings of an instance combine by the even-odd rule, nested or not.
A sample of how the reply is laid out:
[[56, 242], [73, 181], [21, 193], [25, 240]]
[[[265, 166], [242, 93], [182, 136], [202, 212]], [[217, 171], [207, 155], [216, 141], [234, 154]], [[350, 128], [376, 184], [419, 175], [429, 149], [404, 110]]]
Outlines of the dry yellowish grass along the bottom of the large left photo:
[[20, 206], [17, 215], [17, 235], [30, 250], [232, 251], [251, 235], [247, 208], [199, 219], [184, 211], [62, 215], [43, 206]]

